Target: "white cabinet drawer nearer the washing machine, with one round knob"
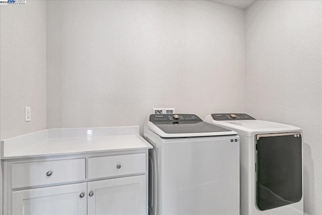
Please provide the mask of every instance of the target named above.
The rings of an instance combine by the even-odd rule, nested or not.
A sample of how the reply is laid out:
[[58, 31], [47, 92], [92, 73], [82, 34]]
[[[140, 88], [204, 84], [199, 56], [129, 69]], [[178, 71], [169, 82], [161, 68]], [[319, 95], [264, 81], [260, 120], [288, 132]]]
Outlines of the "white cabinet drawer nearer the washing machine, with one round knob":
[[145, 153], [89, 158], [89, 179], [145, 173]]

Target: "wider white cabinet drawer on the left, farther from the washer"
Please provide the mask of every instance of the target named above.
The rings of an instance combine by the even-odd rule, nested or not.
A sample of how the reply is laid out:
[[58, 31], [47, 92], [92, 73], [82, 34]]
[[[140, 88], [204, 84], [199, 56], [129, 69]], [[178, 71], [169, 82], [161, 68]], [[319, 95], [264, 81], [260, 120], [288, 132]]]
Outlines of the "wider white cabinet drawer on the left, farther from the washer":
[[78, 181], [85, 179], [85, 158], [13, 164], [11, 169], [12, 188]]

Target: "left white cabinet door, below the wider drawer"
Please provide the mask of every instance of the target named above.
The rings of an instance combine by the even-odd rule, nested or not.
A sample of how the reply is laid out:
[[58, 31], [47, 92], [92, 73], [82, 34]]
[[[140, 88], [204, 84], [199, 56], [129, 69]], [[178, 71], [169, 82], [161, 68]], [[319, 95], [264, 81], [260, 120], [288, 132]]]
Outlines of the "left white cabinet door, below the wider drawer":
[[[14, 215], [86, 215], [87, 183], [15, 191]], [[80, 197], [84, 193], [84, 197]]]

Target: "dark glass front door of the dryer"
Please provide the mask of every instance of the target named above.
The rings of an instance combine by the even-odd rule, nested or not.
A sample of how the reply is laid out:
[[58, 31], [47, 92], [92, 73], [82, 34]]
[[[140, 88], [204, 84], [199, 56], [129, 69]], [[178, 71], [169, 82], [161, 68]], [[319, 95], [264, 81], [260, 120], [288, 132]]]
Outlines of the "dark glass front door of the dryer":
[[301, 200], [301, 134], [259, 134], [256, 149], [258, 208], [267, 210]]

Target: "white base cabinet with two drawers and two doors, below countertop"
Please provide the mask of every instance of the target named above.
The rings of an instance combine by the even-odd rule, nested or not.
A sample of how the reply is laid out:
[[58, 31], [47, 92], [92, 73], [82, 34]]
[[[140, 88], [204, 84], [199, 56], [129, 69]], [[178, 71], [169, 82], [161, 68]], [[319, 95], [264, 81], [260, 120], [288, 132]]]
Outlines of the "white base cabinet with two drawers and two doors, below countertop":
[[4, 164], [6, 215], [147, 214], [147, 150]]

